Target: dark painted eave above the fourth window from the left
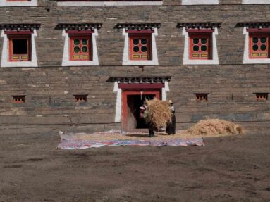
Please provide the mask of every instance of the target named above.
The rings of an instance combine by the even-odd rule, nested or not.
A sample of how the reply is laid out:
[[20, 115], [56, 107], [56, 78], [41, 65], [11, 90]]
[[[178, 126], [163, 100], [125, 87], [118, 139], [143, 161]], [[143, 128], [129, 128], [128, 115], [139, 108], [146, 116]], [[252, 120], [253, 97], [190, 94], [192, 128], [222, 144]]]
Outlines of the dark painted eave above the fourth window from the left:
[[211, 29], [214, 30], [216, 27], [219, 28], [221, 27], [222, 23], [178, 23], [176, 25], [176, 27], [178, 28], [182, 28], [185, 27], [186, 30], [188, 29], [198, 29], [198, 30], [202, 30], [202, 29]]

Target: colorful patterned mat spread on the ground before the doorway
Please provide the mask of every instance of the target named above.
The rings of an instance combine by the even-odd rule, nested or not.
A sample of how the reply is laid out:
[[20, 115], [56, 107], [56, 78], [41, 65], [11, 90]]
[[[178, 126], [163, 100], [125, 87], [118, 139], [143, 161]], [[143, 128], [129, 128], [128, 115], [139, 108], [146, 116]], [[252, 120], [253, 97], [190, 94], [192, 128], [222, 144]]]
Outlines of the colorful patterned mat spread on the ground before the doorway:
[[[85, 133], [63, 133], [59, 132], [61, 141], [57, 149], [87, 149], [102, 146], [204, 146], [202, 138], [192, 139], [155, 139], [148, 138], [128, 139], [128, 133], [121, 130], [111, 130], [108, 132]], [[111, 136], [119, 136], [121, 139], [108, 139]], [[123, 139], [125, 138], [126, 139]]]

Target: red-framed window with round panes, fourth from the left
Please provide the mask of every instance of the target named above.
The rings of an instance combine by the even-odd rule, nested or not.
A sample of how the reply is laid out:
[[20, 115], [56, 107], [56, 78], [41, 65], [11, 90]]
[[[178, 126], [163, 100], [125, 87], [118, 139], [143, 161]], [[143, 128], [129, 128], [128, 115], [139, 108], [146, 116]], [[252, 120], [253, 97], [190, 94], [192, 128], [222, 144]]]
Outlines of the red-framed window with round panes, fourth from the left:
[[190, 59], [211, 60], [211, 33], [190, 33]]

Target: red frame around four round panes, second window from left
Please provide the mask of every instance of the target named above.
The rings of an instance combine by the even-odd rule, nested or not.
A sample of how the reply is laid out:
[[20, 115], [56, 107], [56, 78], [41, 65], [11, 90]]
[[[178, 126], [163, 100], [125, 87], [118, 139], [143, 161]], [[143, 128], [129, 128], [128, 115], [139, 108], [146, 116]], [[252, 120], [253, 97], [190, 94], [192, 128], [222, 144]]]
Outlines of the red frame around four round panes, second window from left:
[[[78, 45], [74, 40], [80, 40]], [[82, 40], [87, 39], [87, 45], [82, 44]], [[69, 34], [70, 61], [92, 61], [92, 34]], [[80, 51], [75, 53], [74, 49], [78, 47]], [[82, 52], [82, 47], [87, 47], [87, 52]]]

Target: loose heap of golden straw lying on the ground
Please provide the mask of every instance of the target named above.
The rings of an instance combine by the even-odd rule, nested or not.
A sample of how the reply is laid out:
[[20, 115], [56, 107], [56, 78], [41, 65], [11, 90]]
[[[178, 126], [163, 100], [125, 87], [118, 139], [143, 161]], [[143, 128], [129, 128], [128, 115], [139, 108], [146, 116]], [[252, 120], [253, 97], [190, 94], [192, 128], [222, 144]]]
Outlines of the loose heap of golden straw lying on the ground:
[[201, 120], [186, 131], [188, 134], [200, 135], [226, 135], [226, 134], [243, 134], [243, 127], [226, 120], [208, 119]]

